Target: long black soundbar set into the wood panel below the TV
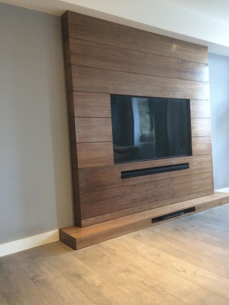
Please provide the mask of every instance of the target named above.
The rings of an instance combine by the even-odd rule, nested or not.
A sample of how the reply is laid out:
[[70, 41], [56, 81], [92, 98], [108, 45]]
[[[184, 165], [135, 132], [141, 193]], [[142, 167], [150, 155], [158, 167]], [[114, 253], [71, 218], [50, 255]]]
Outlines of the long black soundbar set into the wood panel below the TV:
[[152, 175], [157, 173], [171, 172], [174, 170], [189, 169], [189, 163], [173, 164], [151, 167], [148, 169], [133, 169], [121, 172], [121, 178], [132, 178], [138, 176]]

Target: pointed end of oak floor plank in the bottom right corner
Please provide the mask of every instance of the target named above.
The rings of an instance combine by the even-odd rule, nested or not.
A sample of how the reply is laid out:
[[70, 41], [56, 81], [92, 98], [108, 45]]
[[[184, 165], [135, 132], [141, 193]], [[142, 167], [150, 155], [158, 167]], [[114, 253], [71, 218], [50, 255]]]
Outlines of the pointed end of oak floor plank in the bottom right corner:
[[219, 295], [200, 288], [182, 299], [189, 305], [228, 305], [228, 300]]

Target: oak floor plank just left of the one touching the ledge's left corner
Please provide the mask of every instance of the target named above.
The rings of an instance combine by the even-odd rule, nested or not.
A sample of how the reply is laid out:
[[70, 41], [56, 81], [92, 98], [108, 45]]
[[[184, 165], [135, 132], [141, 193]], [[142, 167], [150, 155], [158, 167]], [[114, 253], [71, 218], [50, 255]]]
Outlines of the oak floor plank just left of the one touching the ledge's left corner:
[[51, 304], [95, 304], [48, 261], [24, 268]]

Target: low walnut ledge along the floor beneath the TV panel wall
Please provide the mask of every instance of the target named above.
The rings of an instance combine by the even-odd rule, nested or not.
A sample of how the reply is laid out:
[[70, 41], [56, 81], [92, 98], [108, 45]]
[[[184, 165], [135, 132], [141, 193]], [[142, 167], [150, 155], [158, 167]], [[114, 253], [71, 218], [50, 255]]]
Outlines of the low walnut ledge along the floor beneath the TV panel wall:
[[[161, 206], [152, 210], [123, 216], [99, 224], [92, 224], [83, 228], [70, 226], [59, 229], [60, 240], [72, 249], [78, 250], [111, 238], [146, 229], [162, 222], [174, 220], [176, 218], [208, 210], [227, 203], [229, 203], [229, 193], [214, 192], [212, 195]], [[152, 219], [154, 218], [189, 208], [195, 209], [194, 211], [168, 220], [156, 220], [152, 222]]]

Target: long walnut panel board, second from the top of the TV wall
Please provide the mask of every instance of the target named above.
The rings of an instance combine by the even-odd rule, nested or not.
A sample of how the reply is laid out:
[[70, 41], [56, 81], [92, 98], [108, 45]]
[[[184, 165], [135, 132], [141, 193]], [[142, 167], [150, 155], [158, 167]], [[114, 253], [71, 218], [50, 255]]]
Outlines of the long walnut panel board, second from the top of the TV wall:
[[72, 65], [209, 81], [208, 65], [70, 38]]

